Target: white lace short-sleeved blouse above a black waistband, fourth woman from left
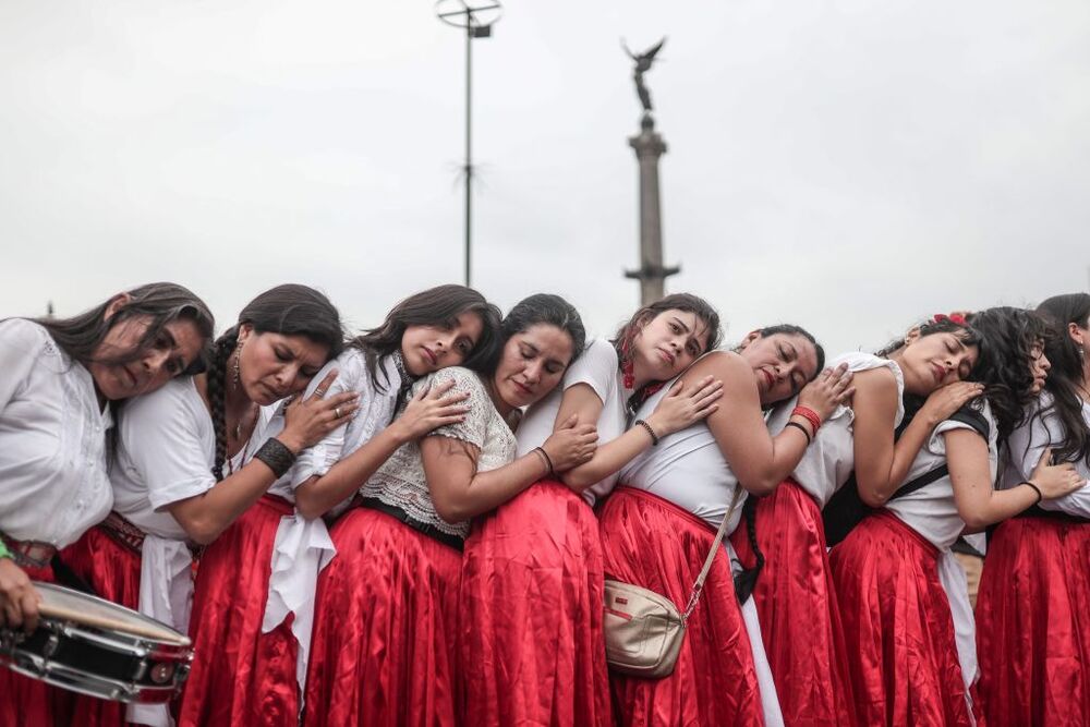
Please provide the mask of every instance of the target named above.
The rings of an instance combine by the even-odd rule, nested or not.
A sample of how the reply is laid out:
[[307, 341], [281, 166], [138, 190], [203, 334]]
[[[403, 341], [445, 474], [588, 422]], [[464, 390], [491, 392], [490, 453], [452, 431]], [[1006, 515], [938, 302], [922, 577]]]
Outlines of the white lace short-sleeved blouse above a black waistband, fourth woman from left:
[[[463, 402], [463, 405], [469, 407], [465, 421], [440, 426], [427, 436], [461, 439], [480, 448], [477, 472], [496, 470], [512, 462], [516, 452], [514, 434], [496, 411], [480, 377], [472, 371], [461, 366], [437, 371], [416, 381], [412, 391], [415, 395], [422, 387], [438, 386], [450, 380], [455, 381], [458, 391], [470, 395]], [[415, 441], [399, 447], [360, 489], [360, 494], [401, 508], [413, 520], [434, 525], [449, 535], [465, 537], [469, 534], [470, 521], [449, 523], [435, 511], [424, 473], [424, 459], [420, 445]]]

